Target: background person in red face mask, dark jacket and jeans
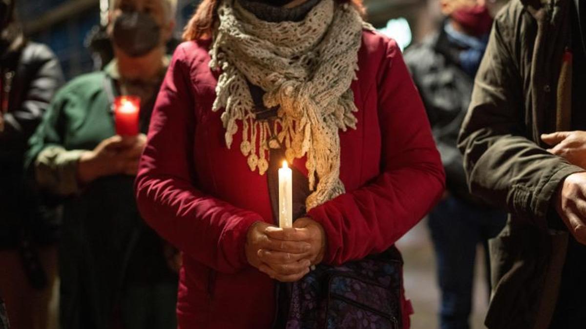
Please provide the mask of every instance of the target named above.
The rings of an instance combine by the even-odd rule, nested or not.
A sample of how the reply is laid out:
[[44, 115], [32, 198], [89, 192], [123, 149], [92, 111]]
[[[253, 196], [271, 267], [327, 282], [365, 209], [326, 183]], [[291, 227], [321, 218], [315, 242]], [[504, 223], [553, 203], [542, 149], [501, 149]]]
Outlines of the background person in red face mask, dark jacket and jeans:
[[[506, 216], [473, 197], [466, 185], [456, 140], [472, 95], [496, 8], [483, 0], [441, 0], [445, 15], [436, 33], [407, 49], [405, 60], [423, 98], [446, 172], [444, 200], [428, 217], [441, 292], [440, 327], [469, 328], [476, 246], [486, 259], [488, 239], [505, 225]], [[492, 3], [488, 5], [493, 5]], [[493, 5], [494, 6], [494, 5]]]

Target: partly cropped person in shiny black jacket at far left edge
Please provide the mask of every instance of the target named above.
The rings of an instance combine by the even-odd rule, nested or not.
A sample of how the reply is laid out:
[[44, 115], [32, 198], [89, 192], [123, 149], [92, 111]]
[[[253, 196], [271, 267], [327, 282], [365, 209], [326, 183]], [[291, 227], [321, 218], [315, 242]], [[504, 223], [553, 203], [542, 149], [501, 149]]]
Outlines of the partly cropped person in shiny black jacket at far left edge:
[[24, 179], [23, 156], [64, 80], [55, 54], [23, 35], [15, 6], [0, 0], [0, 312], [13, 328], [40, 329], [51, 321], [59, 223]]

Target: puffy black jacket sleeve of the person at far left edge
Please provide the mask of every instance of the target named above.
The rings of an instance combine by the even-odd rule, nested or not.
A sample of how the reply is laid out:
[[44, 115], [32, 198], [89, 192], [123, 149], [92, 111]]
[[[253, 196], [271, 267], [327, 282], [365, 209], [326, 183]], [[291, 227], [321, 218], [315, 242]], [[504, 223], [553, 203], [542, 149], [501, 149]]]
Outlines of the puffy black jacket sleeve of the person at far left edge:
[[0, 149], [11, 150], [13, 155], [20, 157], [26, 150], [30, 135], [35, 132], [49, 107], [53, 95], [63, 84], [59, 61], [48, 47], [38, 44], [27, 46], [23, 50], [22, 60], [26, 61], [26, 69], [34, 72], [30, 73], [30, 77], [23, 77], [30, 78], [30, 82], [23, 86], [28, 88], [22, 91], [25, 92], [22, 103], [18, 108], [5, 114], [5, 130], [0, 132]]

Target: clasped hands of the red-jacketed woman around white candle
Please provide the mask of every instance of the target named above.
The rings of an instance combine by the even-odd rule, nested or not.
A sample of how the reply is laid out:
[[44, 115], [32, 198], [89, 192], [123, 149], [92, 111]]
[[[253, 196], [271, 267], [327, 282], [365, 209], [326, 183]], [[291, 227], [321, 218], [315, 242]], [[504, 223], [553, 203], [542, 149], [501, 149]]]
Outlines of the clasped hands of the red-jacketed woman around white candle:
[[295, 282], [309, 273], [309, 249], [311, 245], [301, 241], [272, 239], [267, 232], [278, 229], [265, 222], [255, 222], [248, 229], [246, 258], [272, 279]]

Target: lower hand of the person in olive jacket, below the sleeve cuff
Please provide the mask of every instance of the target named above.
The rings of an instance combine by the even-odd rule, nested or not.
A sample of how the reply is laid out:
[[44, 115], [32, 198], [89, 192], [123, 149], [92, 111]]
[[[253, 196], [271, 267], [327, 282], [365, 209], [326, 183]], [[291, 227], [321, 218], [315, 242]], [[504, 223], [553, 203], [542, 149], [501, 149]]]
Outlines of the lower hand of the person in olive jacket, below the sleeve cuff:
[[586, 172], [571, 174], [560, 184], [556, 210], [574, 238], [586, 245]]

